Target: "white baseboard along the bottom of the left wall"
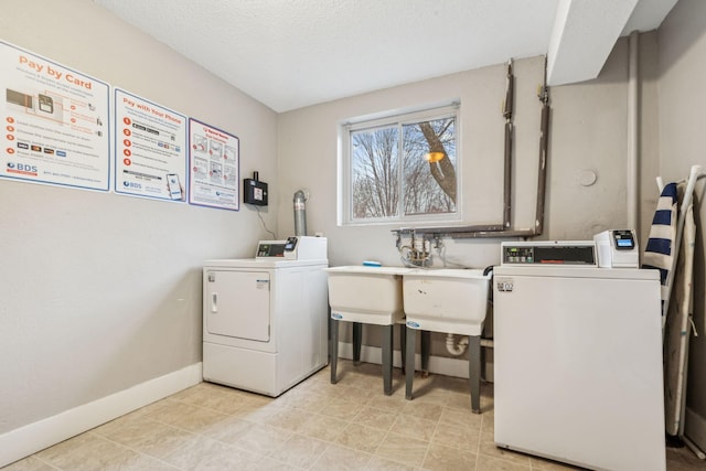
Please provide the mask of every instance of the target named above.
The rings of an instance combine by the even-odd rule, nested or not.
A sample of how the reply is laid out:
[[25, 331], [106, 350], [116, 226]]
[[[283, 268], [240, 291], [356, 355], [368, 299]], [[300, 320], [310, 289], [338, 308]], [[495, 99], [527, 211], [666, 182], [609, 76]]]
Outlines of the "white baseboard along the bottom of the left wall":
[[0, 435], [0, 468], [202, 382], [202, 364]]

